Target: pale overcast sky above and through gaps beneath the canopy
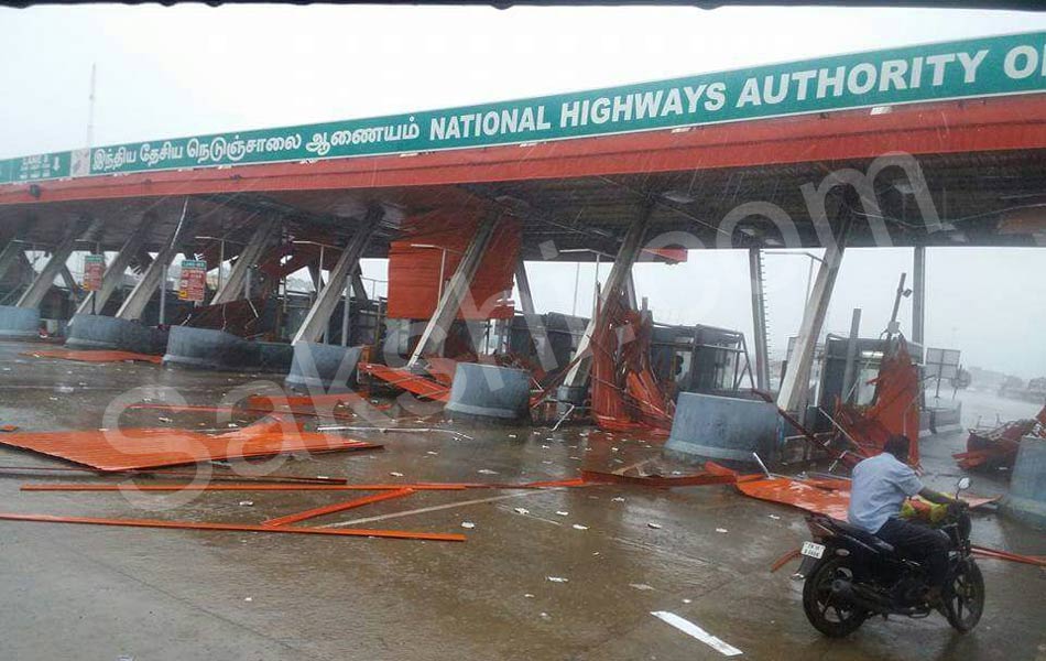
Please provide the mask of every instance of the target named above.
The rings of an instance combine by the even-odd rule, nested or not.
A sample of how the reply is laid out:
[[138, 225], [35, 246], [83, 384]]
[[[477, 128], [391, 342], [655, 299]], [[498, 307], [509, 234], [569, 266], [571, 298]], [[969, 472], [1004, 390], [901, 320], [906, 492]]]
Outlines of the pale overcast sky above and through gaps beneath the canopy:
[[[540, 96], [802, 57], [1046, 30], [1046, 15], [903, 9], [79, 7], [0, 9], [0, 158], [94, 143], [349, 119]], [[827, 329], [889, 319], [912, 251], [847, 253]], [[802, 318], [805, 257], [766, 258], [771, 350]], [[368, 274], [381, 264], [367, 263]], [[570, 312], [574, 266], [532, 269], [540, 311]], [[608, 268], [602, 269], [606, 275]], [[591, 307], [582, 266], [579, 310]], [[640, 264], [655, 319], [743, 330], [747, 256]], [[1046, 251], [931, 249], [927, 342], [970, 366], [1046, 375]], [[903, 306], [905, 332], [909, 305]]]

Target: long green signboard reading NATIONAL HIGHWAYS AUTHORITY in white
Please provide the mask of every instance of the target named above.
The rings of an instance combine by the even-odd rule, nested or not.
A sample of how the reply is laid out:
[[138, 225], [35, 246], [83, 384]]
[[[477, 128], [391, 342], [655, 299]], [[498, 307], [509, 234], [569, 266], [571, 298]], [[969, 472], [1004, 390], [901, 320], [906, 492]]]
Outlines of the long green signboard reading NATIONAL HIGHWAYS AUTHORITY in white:
[[491, 147], [1042, 91], [1046, 33], [1035, 32], [482, 106], [26, 156], [0, 163], [0, 183]]

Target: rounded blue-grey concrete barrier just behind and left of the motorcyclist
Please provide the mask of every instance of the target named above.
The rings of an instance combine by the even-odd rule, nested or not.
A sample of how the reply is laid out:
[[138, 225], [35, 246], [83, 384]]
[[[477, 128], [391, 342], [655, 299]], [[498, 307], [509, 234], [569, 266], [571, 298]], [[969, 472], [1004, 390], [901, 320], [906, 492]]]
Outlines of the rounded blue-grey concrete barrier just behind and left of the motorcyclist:
[[665, 449], [682, 458], [750, 463], [754, 452], [770, 464], [777, 457], [780, 421], [770, 402], [684, 392]]

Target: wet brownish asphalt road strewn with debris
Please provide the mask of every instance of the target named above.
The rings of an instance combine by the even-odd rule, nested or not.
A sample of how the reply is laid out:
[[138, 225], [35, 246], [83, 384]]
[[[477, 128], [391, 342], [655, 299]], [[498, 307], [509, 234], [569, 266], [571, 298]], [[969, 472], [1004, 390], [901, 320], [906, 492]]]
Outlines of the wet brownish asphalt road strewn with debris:
[[[173, 387], [189, 403], [217, 404], [229, 391], [261, 390], [257, 381], [274, 380], [21, 355], [40, 346], [0, 343], [0, 424], [26, 431], [99, 427], [112, 423], [107, 409], [132, 388]], [[150, 395], [135, 391], [128, 400], [143, 397]], [[214, 413], [156, 410], [126, 412], [120, 420], [188, 429], [227, 424]], [[412, 415], [400, 424], [442, 423]], [[356, 432], [353, 437], [384, 443], [385, 449], [287, 458], [272, 468], [369, 483], [511, 481], [573, 477], [581, 465], [612, 469], [657, 453], [626, 435], [585, 427], [465, 431], [473, 438]], [[928, 483], [955, 483], [959, 472], [948, 455], [962, 443], [961, 435], [923, 443]], [[0, 448], [0, 464], [66, 465], [10, 448]], [[353, 497], [19, 491], [25, 483], [74, 479], [3, 475], [0, 509], [255, 523]], [[972, 490], [1004, 487], [998, 478], [976, 476]], [[246, 500], [252, 505], [240, 505]], [[465, 521], [475, 528], [462, 529]], [[651, 616], [655, 610], [675, 613], [753, 659], [1046, 659], [1046, 571], [992, 560], [980, 561], [987, 613], [970, 635], [954, 632], [934, 615], [872, 620], [850, 639], [824, 639], [806, 622], [788, 571], [769, 573], [776, 557], [806, 539], [803, 516], [747, 499], [730, 486], [417, 492], [307, 524], [461, 532], [468, 541], [0, 521], [0, 659], [722, 658]], [[976, 517], [973, 538], [1046, 554], [1046, 534], [991, 512]]]

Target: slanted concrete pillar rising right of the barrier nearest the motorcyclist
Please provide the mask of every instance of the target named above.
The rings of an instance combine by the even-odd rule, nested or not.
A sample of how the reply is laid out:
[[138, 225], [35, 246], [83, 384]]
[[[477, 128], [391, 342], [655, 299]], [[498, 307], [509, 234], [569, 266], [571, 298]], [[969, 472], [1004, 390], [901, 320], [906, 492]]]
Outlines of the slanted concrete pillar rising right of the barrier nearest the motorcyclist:
[[843, 216], [839, 224], [838, 238], [828, 246], [825, 259], [817, 270], [810, 297], [803, 312], [803, 324], [799, 326], [799, 334], [795, 339], [795, 347], [781, 382], [781, 391], [777, 393], [777, 407], [785, 411], [798, 411], [806, 399], [817, 338], [820, 337], [821, 327], [825, 325], [825, 316], [828, 314], [828, 304], [836, 286], [836, 278], [839, 275], [839, 267], [842, 264], [842, 252], [850, 230], [851, 217], [846, 205], [841, 207], [840, 213]]

